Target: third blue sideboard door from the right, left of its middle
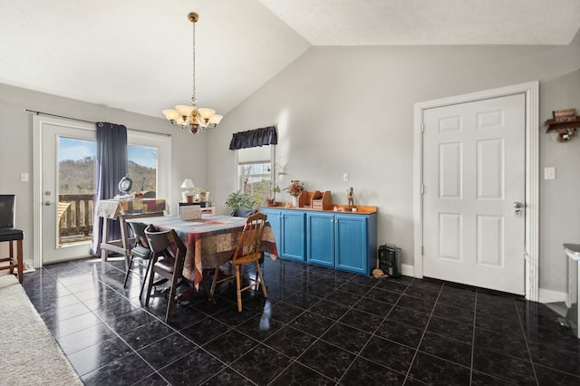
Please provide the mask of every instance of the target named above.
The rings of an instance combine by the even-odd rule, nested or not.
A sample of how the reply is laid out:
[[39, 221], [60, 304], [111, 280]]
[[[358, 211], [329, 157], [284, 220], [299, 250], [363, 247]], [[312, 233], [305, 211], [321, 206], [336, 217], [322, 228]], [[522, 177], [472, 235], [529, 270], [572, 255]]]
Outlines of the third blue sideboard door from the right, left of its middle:
[[282, 246], [280, 256], [297, 261], [305, 261], [305, 218], [306, 215], [298, 210], [282, 212]]

